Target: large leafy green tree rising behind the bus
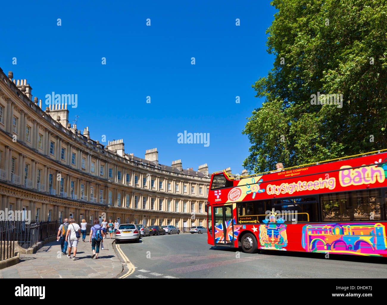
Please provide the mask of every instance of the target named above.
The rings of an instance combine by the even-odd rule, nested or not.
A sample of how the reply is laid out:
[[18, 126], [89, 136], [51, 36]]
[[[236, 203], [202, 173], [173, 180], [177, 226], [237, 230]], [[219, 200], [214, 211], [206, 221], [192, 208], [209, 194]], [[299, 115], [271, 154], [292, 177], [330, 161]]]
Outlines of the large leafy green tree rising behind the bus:
[[[267, 52], [276, 59], [252, 87], [265, 97], [243, 134], [250, 172], [387, 147], [387, 3], [275, 0]], [[283, 64], [281, 64], [283, 63]], [[340, 105], [312, 105], [313, 94], [342, 94]]]

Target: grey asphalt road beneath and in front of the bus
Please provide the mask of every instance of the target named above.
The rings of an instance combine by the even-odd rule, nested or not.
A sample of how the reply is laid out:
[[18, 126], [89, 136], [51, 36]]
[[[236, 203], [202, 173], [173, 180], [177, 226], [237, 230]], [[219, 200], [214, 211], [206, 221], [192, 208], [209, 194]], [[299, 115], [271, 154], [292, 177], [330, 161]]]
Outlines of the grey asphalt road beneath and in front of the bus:
[[325, 258], [320, 253], [269, 250], [247, 254], [209, 245], [207, 234], [144, 237], [140, 243], [121, 242], [118, 247], [116, 252], [122, 251], [131, 263], [119, 277], [128, 278], [385, 278], [387, 274], [387, 258], [337, 254]]

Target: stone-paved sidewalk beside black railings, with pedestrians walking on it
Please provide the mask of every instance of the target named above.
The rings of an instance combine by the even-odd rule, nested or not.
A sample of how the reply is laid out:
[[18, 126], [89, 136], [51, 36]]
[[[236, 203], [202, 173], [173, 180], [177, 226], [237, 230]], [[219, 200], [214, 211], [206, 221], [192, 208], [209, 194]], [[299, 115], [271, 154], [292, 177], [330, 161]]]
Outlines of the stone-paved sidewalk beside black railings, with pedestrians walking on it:
[[76, 260], [67, 258], [60, 251], [60, 242], [52, 241], [35, 254], [20, 254], [19, 264], [0, 270], [0, 278], [113, 278], [123, 270], [116, 256], [114, 239], [104, 239], [104, 249], [99, 250], [98, 259], [91, 259], [89, 236], [86, 242], [82, 235], [78, 242]]

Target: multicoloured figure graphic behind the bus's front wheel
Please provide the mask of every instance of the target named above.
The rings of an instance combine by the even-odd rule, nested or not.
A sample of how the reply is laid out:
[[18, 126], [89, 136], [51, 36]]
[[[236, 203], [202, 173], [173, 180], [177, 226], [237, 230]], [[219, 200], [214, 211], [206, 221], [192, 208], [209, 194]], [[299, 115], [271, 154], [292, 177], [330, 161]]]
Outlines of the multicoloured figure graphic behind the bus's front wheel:
[[266, 224], [259, 225], [259, 242], [262, 245], [260, 249], [286, 251], [288, 236], [284, 220], [280, 218], [276, 221], [276, 214], [272, 211], [269, 221], [264, 222]]

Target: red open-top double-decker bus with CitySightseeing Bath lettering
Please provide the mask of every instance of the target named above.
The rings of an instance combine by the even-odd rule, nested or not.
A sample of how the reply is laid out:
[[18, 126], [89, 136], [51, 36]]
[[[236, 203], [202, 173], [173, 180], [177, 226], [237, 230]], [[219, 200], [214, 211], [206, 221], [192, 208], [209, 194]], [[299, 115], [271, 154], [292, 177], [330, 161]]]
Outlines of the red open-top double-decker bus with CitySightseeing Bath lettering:
[[387, 256], [387, 152], [250, 176], [215, 172], [208, 243], [259, 249]]

